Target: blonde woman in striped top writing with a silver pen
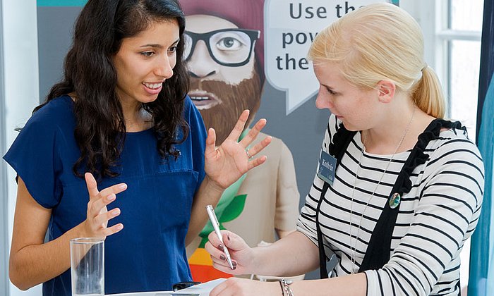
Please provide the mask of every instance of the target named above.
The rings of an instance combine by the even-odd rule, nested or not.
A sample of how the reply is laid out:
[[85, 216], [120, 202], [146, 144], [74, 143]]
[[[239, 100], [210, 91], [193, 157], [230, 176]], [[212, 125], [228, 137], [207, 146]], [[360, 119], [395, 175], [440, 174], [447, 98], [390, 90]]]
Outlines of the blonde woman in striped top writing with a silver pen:
[[[318, 34], [309, 51], [316, 106], [332, 113], [297, 231], [250, 248], [209, 236], [217, 269], [321, 280], [232, 278], [210, 295], [459, 295], [459, 253], [483, 197], [483, 162], [423, 61], [420, 27], [392, 4], [372, 4]], [[326, 261], [337, 264], [327, 278]]]

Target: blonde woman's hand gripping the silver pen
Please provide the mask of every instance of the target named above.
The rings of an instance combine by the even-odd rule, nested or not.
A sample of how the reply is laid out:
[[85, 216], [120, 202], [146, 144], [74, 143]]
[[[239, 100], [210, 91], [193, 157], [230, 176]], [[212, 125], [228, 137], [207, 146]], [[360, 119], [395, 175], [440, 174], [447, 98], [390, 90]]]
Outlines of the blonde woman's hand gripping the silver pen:
[[[204, 248], [211, 255], [212, 266], [219, 271], [230, 274], [246, 274], [253, 272], [253, 249], [239, 235], [229, 230], [221, 230], [223, 243], [219, 241], [216, 233], [212, 231], [208, 235], [209, 241]], [[223, 252], [223, 245], [229, 250], [234, 269], [230, 269], [227, 257]]]

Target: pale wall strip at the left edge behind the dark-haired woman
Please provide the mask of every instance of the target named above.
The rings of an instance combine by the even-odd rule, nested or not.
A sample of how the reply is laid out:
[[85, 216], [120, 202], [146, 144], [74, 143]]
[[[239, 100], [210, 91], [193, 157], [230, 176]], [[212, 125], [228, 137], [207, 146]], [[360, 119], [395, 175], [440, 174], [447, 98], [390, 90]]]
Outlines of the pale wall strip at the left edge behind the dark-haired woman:
[[[1, 125], [1, 136], [6, 141], [5, 147], [1, 147], [3, 149], [1, 155], [3, 156], [6, 152], [5, 148], [10, 147], [17, 136], [14, 128], [22, 126], [28, 120], [32, 109], [39, 101], [39, 83], [36, 1], [7, 0], [2, 1], [2, 6], [1, 20], [3, 23], [1, 25], [1, 35], [3, 37], [4, 54], [4, 88], [2, 88], [4, 113], [2, 116], [4, 116], [5, 124], [2, 123]], [[4, 161], [2, 161], [2, 165], [5, 166]], [[17, 185], [15, 182], [16, 173], [12, 168], [8, 167], [6, 173], [7, 186], [5, 188], [2, 184], [2, 193], [7, 193], [8, 214], [6, 217], [4, 215], [1, 216], [0, 226], [5, 226], [6, 223], [7, 241], [10, 244]], [[2, 278], [1, 280], [6, 279]], [[41, 287], [38, 286], [23, 292], [12, 284], [8, 284], [6, 291], [0, 290], [0, 295], [41, 295]]]

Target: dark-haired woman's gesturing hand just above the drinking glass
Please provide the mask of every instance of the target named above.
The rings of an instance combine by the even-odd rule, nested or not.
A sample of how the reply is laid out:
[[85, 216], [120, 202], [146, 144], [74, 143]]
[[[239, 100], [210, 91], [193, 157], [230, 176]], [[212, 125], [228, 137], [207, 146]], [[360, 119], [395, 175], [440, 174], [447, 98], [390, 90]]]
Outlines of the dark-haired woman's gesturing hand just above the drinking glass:
[[86, 220], [83, 222], [83, 231], [88, 238], [106, 238], [108, 235], [118, 233], [123, 229], [123, 224], [118, 223], [112, 227], [108, 221], [120, 215], [120, 209], [108, 211], [107, 205], [114, 202], [116, 195], [127, 189], [125, 183], [116, 184], [99, 191], [95, 177], [91, 173], [84, 175], [88, 186], [89, 202]]

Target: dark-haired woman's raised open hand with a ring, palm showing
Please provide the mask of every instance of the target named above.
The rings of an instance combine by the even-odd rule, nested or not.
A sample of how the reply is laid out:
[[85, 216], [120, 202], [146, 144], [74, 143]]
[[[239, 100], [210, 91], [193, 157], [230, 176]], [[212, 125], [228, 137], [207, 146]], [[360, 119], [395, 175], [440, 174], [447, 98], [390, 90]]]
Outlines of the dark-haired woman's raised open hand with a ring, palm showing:
[[210, 180], [223, 190], [251, 168], [255, 168], [266, 161], [266, 156], [258, 158], [253, 158], [253, 156], [270, 144], [271, 137], [265, 137], [261, 142], [247, 150], [248, 145], [255, 140], [260, 130], [266, 125], [264, 118], [255, 123], [248, 134], [240, 142], [237, 142], [248, 119], [248, 114], [248, 110], [244, 110], [241, 113], [234, 129], [231, 130], [230, 135], [219, 147], [216, 147], [215, 130], [210, 128], [207, 131], [205, 172]]

